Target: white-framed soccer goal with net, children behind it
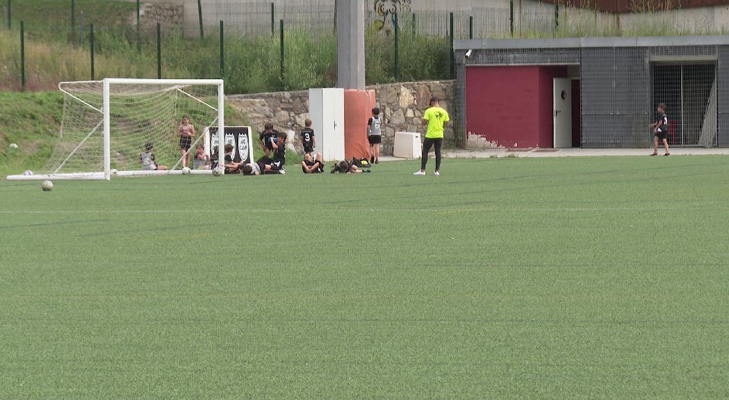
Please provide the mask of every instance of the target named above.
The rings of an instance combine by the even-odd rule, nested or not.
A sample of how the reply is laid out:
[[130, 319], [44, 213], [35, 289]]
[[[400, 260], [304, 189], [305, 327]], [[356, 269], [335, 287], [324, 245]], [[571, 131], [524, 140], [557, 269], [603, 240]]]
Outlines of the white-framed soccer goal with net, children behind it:
[[[104, 79], [61, 82], [58, 88], [64, 94], [63, 120], [50, 159], [32, 175], [8, 179], [108, 180], [182, 173], [184, 161], [192, 168], [198, 145], [223, 163], [224, 152], [211, 148], [204, 137], [211, 126], [225, 127], [222, 79]], [[184, 141], [179, 136], [182, 117], [195, 130]], [[181, 148], [187, 146], [183, 154]], [[142, 153], [154, 154], [154, 166], [149, 155], [143, 165]]]

